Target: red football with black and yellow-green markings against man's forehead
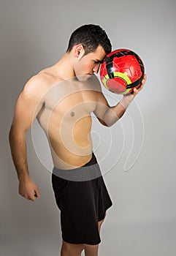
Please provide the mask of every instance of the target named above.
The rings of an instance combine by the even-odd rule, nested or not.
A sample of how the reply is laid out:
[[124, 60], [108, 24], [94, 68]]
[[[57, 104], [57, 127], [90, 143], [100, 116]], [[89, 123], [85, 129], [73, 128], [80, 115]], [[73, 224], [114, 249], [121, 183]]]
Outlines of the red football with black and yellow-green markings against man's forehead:
[[100, 67], [100, 78], [107, 90], [128, 94], [139, 86], [144, 77], [142, 59], [132, 50], [113, 50]]

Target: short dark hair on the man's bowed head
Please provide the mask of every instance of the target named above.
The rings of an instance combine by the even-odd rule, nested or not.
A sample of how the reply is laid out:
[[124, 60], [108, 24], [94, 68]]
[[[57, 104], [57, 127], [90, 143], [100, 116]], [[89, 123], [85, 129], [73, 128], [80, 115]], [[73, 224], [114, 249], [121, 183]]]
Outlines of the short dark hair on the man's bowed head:
[[94, 52], [99, 45], [102, 46], [106, 54], [112, 50], [110, 39], [99, 25], [88, 24], [74, 30], [69, 39], [66, 52], [70, 52], [73, 46], [78, 44], [83, 45], [84, 55]]

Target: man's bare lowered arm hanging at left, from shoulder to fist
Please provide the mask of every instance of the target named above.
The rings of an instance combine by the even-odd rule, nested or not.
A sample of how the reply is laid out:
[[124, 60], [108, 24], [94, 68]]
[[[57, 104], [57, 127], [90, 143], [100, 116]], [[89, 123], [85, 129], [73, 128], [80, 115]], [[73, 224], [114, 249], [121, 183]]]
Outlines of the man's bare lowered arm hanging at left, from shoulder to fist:
[[9, 145], [19, 180], [19, 194], [29, 200], [39, 197], [37, 185], [31, 181], [26, 157], [26, 131], [42, 108], [45, 86], [42, 75], [28, 80], [18, 97], [15, 114], [9, 131]]

